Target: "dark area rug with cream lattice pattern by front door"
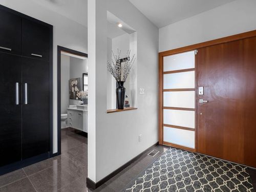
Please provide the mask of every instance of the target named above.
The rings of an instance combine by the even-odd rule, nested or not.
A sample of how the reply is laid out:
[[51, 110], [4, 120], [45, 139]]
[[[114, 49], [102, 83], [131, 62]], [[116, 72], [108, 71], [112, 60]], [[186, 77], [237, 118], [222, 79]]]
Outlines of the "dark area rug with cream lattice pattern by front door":
[[124, 191], [254, 190], [247, 167], [171, 147]]

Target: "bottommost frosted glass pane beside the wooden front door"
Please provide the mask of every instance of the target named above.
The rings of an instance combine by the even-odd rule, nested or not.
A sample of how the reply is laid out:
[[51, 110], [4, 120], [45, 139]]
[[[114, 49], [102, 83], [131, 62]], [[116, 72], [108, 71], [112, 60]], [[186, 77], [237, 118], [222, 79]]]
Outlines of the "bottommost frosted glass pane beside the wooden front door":
[[174, 143], [190, 148], [195, 148], [195, 132], [181, 129], [175, 129], [172, 127], [164, 126], [163, 129], [165, 142]]

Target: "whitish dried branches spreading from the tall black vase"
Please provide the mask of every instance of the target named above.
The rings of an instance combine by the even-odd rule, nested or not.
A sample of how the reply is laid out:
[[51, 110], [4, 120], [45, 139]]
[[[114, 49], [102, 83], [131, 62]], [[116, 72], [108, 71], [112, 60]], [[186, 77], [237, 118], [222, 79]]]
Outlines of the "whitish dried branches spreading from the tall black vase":
[[[117, 55], [115, 55], [113, 53], [112, 50], [112, 59], [107, 60], [107, 67], [108, 67], [108, 71], [111, 73], [111, 75], [113, 75], [113, 77], [116, 79], [116, 81], [126, 81], [127, 76], [129, 75], [129, 73], [131, 72], [131, 69], [133, 67], [133, 63], [135, 61], [135, 54], [133, 55], [132, 59], [130, 60], [130, 53], [131, 50], [128, 50], [126, 53], [125, 59], [123, 60], [123, 69], [122, 69], [122, 65], [121, 65], [121, 58], [120, 58], [120, 54], [121, 54], [121, 50], [119, 52], [119, 50], [117, 49]], [[122, 75], [123, 72], [123, 75]]]

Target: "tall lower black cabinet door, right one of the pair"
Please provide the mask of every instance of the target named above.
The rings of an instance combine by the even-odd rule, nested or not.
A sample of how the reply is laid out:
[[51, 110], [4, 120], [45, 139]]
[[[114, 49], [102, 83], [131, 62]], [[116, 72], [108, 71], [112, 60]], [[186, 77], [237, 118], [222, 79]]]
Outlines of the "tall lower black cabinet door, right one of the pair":
[[49, 61], [23, 57], [22, 78], [22, 153], [26, 159], [50, 151]]

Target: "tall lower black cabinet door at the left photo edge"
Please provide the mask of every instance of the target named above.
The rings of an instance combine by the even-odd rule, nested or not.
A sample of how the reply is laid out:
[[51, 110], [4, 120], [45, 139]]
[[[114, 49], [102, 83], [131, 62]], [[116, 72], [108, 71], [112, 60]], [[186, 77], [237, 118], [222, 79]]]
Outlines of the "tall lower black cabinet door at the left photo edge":
[[21, 60], [20, 56], [0, 53], [0, 166], [22, 159]]

